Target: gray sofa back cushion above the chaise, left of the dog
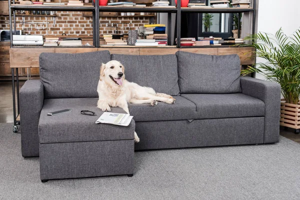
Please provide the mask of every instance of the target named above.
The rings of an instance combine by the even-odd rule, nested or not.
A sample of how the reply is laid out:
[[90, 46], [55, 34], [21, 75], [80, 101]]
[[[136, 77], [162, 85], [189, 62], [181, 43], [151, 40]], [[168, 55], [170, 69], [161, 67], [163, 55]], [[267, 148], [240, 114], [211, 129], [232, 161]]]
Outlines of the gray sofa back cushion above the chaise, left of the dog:
[[40, 53], [39, 75], [44, 98], [97, 97], [100, 65], [108, 50], [85, 53]]

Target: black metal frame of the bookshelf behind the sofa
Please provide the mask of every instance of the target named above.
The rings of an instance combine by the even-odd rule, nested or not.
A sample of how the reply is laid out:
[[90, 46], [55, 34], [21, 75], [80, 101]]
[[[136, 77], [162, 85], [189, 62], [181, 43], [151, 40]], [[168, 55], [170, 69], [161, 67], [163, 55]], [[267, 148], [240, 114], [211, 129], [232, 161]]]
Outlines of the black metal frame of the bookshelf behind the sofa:
[[[15, 23], [15, 10], [55, 10], [55, 11], [92, 11], [93, 19], [92, 19], [92, 27], [93, 27], [93, 46], [100, 47], [99, 41], [99, 11], [130, 11], [130, 12], [164, 12], [167, 13], [167, 37], [168, 37], [168, 45], [171, 45], [171, 13], [176, 13], [176, 37], [177, 41], [180, 41], [180, 27], [181, 27], [181, 13], [189, 12], [189, 13], [240, 13], [242, 12], [253, 12], [253, 23], [252, 23], [252, 33], [255, 31], [255, 0], [253, 0], [253, 8], [181, 8], [180, 0], [177, 1], [177, 8], [158, 8], [158, 7], [112, 7], [112, 6], [99, 6], [99, 0], [95, 0], [93, 6], [53, 6], [53, 5], [40, 5], [40, 6], [30, 6], [30, 5], [15, 5], [15, 0], [12, 0], [13, 5], [11, 5], [11, 0], [8, 0], [8, 9], [9, 9], [9, 29], [10, 29], [10, 48], [12, 45], [12, 35], [15, 34], [16, 31], [16, 23]], [[12, 33], [12, 16], [13, 16], [13, 27], [14, 32]], [[239, 30], [238, 30], [239, 35]], [[93, 47], [91, 46], [91, 47]], [[177, 48], [191, 48], [199, 46], [180, 46], [180, 42], [176, 44]], [[22, 47], [22, 46], [18, 46]], [[86, 46], [87, 47], [87, 46]], [[203, 46], [208, 47], [208, 46]], [[218, 46], [220, 47], [220, 46]], [[221, 46], [227, 47], [227, 46]], [[18, 79], [18, 68], [15, 68], [15, 76], [14, 78], [14, 68], [11, 68], [11, 77], [12, 77], [12, 101], [13, 101], [13, 132], [17, 132], [17, 125], [20, 124], [20, 121], [17, 121], [17, 115], [19, 114], [19, 79]], [[16, 81], [16, 85], [14, 84]], [[16, 86], [16, 100], [17, 100], [17, 115], [15, 108], [15, 86]]]

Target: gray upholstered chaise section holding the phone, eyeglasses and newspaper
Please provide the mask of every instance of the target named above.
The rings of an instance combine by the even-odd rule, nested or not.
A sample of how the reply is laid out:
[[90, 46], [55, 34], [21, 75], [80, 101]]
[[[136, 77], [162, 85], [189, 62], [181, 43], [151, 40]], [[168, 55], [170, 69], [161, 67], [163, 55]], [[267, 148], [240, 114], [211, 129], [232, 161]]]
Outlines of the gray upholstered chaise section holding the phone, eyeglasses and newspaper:
[[[44, 99], [38, 124], [40, 179], [94, 177], [133, 174], [134, 128], [95, 124], [102, 111], [95, 98]], [[71, 108], [72, 111], [47, 116], [50, 111]], [[80, 114], [96, 111], [97, 116]], [[112, 108], [112, 112], [123, 112]]]

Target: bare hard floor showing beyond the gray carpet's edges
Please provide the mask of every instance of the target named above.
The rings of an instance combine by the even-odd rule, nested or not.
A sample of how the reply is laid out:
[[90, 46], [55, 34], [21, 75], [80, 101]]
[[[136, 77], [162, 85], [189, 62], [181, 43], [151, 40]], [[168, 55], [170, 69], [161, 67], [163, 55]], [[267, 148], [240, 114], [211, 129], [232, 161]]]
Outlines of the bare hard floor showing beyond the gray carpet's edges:
[[[25, 81], [20, 81], [21, 87]], [[0, 81], [0, 123], [13, 122], [11, 81]], [[12, 127], [11, 127], [12, 129]], [[300, 143], [300, 134], [294, 134], [293, 129], [284, 130], [280, 127], [280, 135]]]

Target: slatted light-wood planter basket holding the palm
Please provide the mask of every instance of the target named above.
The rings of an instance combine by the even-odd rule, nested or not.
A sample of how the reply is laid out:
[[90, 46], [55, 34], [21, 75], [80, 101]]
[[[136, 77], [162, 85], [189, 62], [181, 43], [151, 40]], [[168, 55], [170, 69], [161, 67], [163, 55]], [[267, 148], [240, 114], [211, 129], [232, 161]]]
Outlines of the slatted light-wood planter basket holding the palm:
[[300, 132], [300, 101], [298, 104], [291, 104], [281, 99], [280, 125], [294, 128], [295, 133]]

